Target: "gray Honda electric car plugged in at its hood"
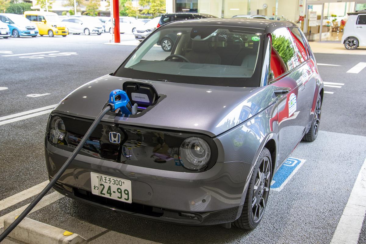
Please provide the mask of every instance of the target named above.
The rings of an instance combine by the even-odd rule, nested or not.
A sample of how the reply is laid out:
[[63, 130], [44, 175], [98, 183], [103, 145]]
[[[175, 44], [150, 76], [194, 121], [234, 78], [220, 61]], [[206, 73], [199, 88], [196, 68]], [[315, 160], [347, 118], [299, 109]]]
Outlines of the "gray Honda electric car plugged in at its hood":
[[[171, 52], [156, 44], [176, 35]], [[153, 31], [112, 74], [67, 95], [45, 136], [49, 178], [112, 90], [135, 115], [108, 112], [54, 189], [134, 217], [253, 229], [277, 169], [317, 138], [323, 83], [291, 22], [197, 19]]]

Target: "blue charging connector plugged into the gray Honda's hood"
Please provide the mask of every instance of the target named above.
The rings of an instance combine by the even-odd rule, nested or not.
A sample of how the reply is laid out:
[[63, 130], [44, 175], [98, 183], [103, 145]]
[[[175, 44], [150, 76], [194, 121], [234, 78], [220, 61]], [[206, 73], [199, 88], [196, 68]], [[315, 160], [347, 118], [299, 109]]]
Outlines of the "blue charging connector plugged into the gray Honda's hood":
[[[120, 98], [116, 100], [117, 96]], [[120, 89], [111, 91], [111, 94], [109, 95], [109, 105], [112, 107], [112, 111], [120, 109], [121, 113], [126, 115], [135, 115], [137, 113], [137, 104], [132, 106], [127, 93]]]

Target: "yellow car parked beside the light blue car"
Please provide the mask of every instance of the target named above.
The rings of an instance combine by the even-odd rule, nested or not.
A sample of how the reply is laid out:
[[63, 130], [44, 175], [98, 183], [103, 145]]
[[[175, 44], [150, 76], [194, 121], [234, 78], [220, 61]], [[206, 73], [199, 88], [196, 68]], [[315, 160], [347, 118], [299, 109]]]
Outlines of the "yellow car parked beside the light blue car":
[[41, 36], [49, 35], [53, 37], [54, 35], [62, 35], [66, 37], [68, 34], [66, 26], [64, 23], [61, 23], [61, 19], [54, 12], [25, 11], [24, 17], [36, 24]]

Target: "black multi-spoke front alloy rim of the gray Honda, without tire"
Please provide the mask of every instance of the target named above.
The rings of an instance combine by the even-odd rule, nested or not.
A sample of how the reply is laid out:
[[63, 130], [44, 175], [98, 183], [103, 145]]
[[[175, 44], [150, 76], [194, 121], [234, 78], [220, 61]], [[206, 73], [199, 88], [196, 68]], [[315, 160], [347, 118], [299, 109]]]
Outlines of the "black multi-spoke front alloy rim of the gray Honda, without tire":
[[271, 178], [269, 164], [269, 158], [264, 157], [259, 165], [257, 176], [255, 177], [252, 198], [252, 217], [254, 222], [259, 222], [261, 220], [267, 204]]

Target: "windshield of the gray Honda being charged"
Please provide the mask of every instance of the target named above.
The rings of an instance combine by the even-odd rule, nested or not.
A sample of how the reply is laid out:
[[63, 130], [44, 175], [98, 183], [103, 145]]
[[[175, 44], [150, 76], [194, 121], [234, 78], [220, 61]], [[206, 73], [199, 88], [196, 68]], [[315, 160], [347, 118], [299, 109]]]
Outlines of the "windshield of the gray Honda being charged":
[[[262, 39], [263, 33], [258, 33], [258, 29], [243, 27], [162, 27], [130, 55], [115, 75], [201, 85], [257, 87]], [[171, 48], [165, 52], [156, 44], [171, 45]]]

